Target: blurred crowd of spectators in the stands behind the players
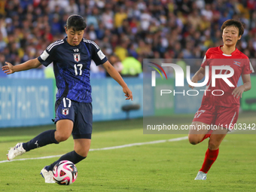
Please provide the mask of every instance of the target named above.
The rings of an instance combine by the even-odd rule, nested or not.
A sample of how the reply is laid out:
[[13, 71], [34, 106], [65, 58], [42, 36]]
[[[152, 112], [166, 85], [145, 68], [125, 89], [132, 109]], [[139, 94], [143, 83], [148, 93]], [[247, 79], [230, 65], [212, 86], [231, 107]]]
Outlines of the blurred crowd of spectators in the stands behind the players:
[[[245, 26], [236, 47], [256, 58], [254, 0], [0, 0], [0, 66], [38, 57], [65, 38], [71, 14], [87, 20], [84, 38], [95, 41], [123, 76], [139, 75], [145, 58], [203, 58], [209, 47], [223, 44], [221, 25], [232, 18]], [[103, 71], [93, 64], [91, 70]]]

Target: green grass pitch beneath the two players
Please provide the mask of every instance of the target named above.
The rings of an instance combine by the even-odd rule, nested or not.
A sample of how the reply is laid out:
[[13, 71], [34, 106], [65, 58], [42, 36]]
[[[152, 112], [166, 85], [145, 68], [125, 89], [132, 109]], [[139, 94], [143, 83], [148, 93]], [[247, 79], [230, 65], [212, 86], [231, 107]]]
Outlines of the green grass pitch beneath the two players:
[[[237, 123], [256, 123], [256, 113], [239, 115]], [[177, 119], [173, 117], [174, 119]], [[192, 120], [192, 116], [183, 122]], [[26, 142], [54, 126], [0, 129], [0, 162], [8, 148]], [[243, 132], [245, 133], [245, 132]], [[90, 151], [77, 164], [78, 178], [70, 186], [45, 184], [39, 172], [58, 157], [0, 163], [0, 191], [256, 191], [256, 130], [228, 134], [206, 181], [194, 181], [207, 149], [207, 141], [193, 146], [187, 139]], [[93, 124], [92, 149], [174, 139], [186, 135], [145, 135], [142, 119]], [[70, 138], [47, 145], [17, 159], [60, 155], [73, 150]]]

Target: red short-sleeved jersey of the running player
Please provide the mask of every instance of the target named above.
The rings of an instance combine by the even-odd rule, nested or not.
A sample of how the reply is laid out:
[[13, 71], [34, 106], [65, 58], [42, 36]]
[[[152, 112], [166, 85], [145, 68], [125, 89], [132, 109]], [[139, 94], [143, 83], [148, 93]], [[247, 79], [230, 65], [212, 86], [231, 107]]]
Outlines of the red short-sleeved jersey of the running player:
[[[209, 50], [206, 51], [206, 56], [201, 65], [203, 68], [209, 66], [209, 81], [206, 85], [207, 91], [205, 91], [203, 96], [202, 105], [233, 107], [234, 105], [239, 105], [239, 98], [235, 98], [231, 93], [237, 87], [237, 82], [239, 81], [240, 76], [250, 74], [251, 72], [254, 72], [254, 70], [248, 56], [245, 56], [245, 54], [237, 48], [231, 55], [226, 55], [222, 52], [221, 47], [222, 46], [209, 48]], [[216, 78], [215, 87], [212, 87], [212, 66], [230, 66], [234, 70], [234, 74], [227, 79], [235, 87], [230, 87], [221, 78]], [[230, 74], [230, 71], [224, 69], [216, 70], [215, 74]]]

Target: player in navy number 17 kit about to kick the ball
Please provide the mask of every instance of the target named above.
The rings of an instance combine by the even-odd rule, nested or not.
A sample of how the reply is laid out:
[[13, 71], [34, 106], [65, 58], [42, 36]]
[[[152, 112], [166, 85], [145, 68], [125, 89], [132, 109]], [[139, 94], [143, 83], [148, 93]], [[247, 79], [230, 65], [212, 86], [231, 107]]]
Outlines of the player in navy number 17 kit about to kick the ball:
[[[87, 157], [90, 149], [93, 109], [90, 86], [91, 60], [97, 66], [102, 65], [106, 72], [123, 88], [126, 99], [133, 100], [133, 94], [121, 78], [120, 74], [111, 66], [108, 59], [98, 45], [84, 39], [84, 29], [87, 24], [83, 17], [72, 15], [66, 21], [67, 37], [50, 44], [38, 58], [30, 59], [20, 65], [13, 66], [6, 62], [2, 70], [8, 75], [38, 66], [48, 66], [53, 62], [56, 78], [56, 130], [47, 130], [25, 143], [18, 143], [8, 152], [8, 160], [14, 159], [32, 149], [48, 144], [63, 142], [73, 136], [74, 151], [64, 154], [59, 160], [41, 169], [41, 175], [46, 183], [54, 183], [53, 166], [61, 160], [78, 163]], [[104, 80], [103, 80], [104, 81]]]

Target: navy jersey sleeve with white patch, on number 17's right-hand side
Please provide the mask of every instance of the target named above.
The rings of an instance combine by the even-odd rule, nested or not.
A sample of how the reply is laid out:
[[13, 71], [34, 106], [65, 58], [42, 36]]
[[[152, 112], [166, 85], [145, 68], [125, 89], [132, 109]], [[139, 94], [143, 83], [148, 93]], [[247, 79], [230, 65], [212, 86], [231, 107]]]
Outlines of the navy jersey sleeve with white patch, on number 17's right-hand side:
[[105, 56], [105, 54], [102, 53], [102, 50], [99, 49], [99, 46], [95, 42], [90, 41], [90, 49], [92, 53], [92, 59], [95, 62], [96, 66], [102, 65], [104, 62], [108, 60], [107, 56]]

